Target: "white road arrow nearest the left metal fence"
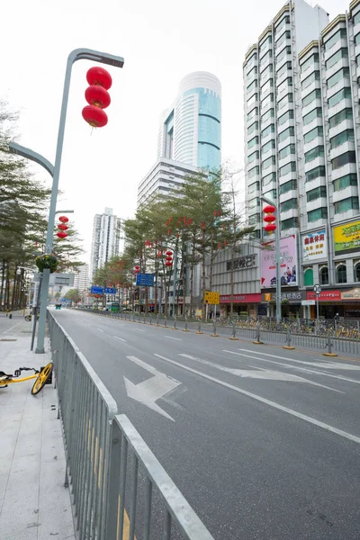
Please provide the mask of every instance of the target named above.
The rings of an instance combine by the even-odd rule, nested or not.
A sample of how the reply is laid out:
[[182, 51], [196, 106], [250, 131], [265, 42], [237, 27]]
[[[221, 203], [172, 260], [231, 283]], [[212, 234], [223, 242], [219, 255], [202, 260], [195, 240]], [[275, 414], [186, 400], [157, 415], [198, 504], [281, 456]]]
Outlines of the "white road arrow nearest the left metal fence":
[[139, 401], [143, 405], [146, 405], [149, 409], [155, 410], [159, 414], [165, 416], [166, 419], [173, 420], [174, 422], [175, 420], [169, 414], [167, 414], [165, 410], [162, 410], [155, 401], [165, 396], [166, 393], [170, 392], [171, 390], [174, 390], [176, 386], [179, 386], [181, 383], [175, 379], [172, 379], [171, 377], [168, 377], [166, 374], [162, 374], [161, 372], [157, 371], [155, 367], [142, 362], [142, 360], [139, 360], [139, 358], [136, 356], [127, 356], [127, 358], [131, 360], [131, 362], [134, 362], [134, 364], [146, 369], [148, 372], [150, 372], [150, 374], [154, 374], [154, 377], [151, 377], [147, 381], [139, 384], [131, 383], [129, 379], [124, 377], [128, 396], [132, 400]]

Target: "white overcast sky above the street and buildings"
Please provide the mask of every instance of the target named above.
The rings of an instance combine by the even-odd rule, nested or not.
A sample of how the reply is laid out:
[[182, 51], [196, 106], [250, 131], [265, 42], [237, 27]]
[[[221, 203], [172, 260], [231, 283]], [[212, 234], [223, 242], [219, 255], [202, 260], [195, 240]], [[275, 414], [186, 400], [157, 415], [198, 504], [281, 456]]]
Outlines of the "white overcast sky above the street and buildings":
[[[123, 218], [136, 208], [137, 186], [157, 157], [160, 112], [180, 79], [210, 71], [222, 85], [222, 157], [243, 160], [242, 63], [247, 48], [284, 0], [14, 0], [2, 4], [0, 97], [21, 113], [18, 141], [55, 160], [67, 55], [86, 47], [125, 58], [111, 68], [109, 123], [82, 118], [87, 61], [73, 69], [58, 208], [75, 210], [89, 250], [94, 214], [105, 206]], [[345, 0], [323, 0], [330, 20]], [[49, 175], [33, 166], [49, 183]], [[88, 256], [84, 257], [86, 260]]]

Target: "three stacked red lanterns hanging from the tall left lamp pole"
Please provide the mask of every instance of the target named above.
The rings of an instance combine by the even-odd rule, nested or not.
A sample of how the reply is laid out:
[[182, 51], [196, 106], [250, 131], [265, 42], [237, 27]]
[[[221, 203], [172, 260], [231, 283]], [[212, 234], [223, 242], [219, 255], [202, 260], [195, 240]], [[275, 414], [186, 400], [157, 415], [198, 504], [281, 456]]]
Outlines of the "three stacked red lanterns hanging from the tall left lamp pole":
[[112, 77], [103, 67], [90, 67], [86, 73], [89, 86], [85, 90], [88, 105], [83, 109], [83, 118], [93, 128], [103, 128], [107, 124], [107, 114], [103, 111], [111, 103], [108, 92], [112, 86]]

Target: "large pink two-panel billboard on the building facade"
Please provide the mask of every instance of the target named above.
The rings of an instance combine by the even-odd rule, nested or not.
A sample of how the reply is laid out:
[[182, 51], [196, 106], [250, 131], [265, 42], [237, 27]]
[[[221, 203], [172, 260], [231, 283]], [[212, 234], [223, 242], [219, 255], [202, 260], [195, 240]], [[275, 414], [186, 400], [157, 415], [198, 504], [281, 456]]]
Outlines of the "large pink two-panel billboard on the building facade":
[[[296, 237], [281, 238], [281, 285], [296, 287], [298, 284]], [[275, 242], [269, 242], [261, 252], [261, 286], [263, 289], [276, 286]]]

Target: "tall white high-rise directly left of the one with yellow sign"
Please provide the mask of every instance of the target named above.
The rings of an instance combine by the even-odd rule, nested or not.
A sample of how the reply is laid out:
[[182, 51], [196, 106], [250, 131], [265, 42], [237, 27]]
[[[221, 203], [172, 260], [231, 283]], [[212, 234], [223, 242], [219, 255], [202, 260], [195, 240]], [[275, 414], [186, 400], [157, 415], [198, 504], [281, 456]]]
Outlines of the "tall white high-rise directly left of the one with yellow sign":
[[244, 126], [248, 221], [263, 234], [260, 196], [280, 204], [282, 235], [299, 226], [298, 181], [302, 144], [302, 88], [298, 53], [329, 23], [304, 0], [284, 5], [247, 50]]

